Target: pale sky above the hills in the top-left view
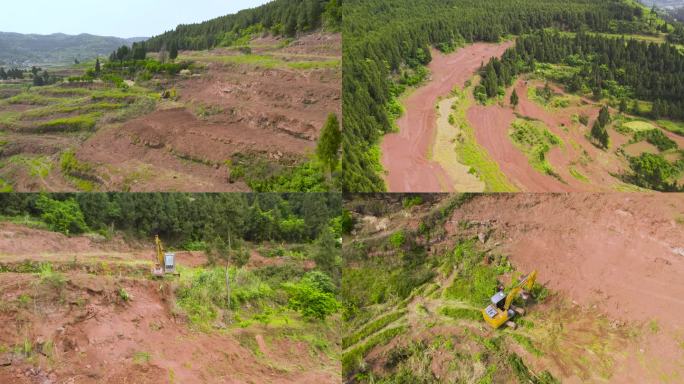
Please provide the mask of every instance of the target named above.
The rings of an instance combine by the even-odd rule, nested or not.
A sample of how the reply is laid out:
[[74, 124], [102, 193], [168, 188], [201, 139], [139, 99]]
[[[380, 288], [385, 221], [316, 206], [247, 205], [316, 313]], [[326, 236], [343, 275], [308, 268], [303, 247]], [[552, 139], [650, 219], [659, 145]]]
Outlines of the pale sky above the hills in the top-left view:
[[31, 0], [3, 1], [0, 31], [47, 35], [90, 33], [151, 37], [257, 7], [269, 0]]

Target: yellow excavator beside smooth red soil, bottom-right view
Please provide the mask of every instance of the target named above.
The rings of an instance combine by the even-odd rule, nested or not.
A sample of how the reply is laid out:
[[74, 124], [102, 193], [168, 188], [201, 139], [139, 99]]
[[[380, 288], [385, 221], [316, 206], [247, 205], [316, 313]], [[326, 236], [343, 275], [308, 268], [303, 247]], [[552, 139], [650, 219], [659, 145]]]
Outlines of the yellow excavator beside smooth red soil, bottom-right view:
[[512, 329], [517, 328], [517, 324], [513, 321], [516, 316], [524, 315], [525, 309], [513, 305], [513, 300], [520, 296], [523, 300], [530, 297], [530, 291], [537, 281], [537, 271], [524, 276], [518, 281], [518, 284], [513, 287], [508, 294], [505, 294], [503, 289], [491, 297], [491, 304], [482, 310], [482, 317], [484, 321], [494, 329], [499, 329], [504, 324]]

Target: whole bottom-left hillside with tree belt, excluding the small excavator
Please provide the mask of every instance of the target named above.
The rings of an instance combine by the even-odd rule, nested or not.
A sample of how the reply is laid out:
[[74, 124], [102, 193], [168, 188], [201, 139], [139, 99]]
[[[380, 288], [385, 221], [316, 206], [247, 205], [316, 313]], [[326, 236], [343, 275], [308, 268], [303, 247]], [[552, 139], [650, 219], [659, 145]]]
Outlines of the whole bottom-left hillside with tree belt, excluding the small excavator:
[[0, 199], [0, 382], [339, 382], [333, 196]]

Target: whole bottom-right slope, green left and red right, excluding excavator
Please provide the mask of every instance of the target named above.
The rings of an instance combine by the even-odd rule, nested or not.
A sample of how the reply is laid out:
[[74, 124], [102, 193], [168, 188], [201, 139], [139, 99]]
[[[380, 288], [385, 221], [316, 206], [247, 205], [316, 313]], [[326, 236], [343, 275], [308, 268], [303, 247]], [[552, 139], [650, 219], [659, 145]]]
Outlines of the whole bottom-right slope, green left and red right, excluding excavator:
[[[674, 383], [684, 374], [681, 197], [355, 196], [346, 383]], [[483, 319], [538, 272], [517, 328]]]

